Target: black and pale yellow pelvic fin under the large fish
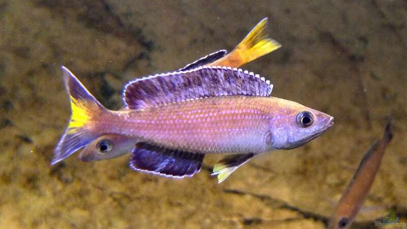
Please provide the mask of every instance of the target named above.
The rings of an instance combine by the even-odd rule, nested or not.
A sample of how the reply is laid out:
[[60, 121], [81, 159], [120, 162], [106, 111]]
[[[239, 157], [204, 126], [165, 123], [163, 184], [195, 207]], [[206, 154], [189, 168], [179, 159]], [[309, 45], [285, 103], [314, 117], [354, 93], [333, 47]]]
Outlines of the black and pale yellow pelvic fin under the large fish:
[[215, 164], [212, 175], [218, 175], [218, 183], [221, 183], [252, 157], [254, 157], [253, 153], [228, 155]]

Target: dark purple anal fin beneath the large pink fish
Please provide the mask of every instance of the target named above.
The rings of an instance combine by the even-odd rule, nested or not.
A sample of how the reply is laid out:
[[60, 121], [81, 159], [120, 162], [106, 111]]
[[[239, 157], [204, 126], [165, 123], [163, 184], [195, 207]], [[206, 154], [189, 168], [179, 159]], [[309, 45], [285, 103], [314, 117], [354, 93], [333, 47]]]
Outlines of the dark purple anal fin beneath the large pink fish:
[[130, 167], [134, 170], [172, 178], [192, 177], [199, 172], [205, 156], [157, 147], [146, 142], [138, 143], [131, 153]]

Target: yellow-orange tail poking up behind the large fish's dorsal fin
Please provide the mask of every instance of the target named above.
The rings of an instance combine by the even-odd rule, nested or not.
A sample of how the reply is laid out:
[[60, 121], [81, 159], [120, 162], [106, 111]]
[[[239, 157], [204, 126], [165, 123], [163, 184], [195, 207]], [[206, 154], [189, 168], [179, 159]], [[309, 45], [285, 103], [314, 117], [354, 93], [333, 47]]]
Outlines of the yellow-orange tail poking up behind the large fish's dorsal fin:
[[210, 65], [237, 68], [280, 48], [277, 41], [268, 37], [266, 29], [267, 18], [261, 20], [232, 52]]

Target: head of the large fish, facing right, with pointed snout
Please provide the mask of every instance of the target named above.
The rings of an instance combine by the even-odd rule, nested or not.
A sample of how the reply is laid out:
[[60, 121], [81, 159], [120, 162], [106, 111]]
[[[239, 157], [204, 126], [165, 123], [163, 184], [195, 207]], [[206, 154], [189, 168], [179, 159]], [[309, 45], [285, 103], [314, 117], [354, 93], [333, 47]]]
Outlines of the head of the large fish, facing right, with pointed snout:
[[270, 119], [269, 141], [274, 149], [300, 147], [334, 125], [334, 118], [293, 101], [279, 101]]

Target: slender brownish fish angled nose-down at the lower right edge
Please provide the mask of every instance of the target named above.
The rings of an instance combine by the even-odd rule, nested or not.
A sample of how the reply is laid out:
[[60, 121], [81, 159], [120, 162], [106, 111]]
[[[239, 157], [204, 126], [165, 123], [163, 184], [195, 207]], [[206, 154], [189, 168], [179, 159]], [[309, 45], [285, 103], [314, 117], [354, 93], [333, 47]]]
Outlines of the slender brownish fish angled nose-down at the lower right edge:
[[336, 206], [328, 228], [343, 229], [352, 224], [369, 193], [387, 145], [392, 138], [393, 128], [389, 118], [383, 137], [380, 140], [375, 139], [368, 151], [363, 155], [351, 183], [344, 190]]

